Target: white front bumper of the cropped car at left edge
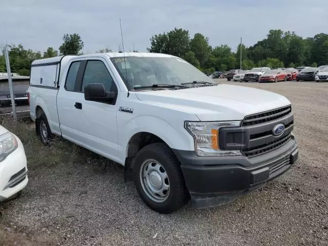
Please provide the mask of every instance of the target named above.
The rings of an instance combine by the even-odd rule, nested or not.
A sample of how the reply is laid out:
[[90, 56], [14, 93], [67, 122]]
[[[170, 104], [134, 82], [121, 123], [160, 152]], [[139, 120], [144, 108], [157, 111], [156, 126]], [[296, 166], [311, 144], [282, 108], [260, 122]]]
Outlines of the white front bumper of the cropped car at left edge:
[[24, 147], [17, 137], [16, 139], [18, 148], [0, 162], [0, 201], [23, 190], [28, 182]]

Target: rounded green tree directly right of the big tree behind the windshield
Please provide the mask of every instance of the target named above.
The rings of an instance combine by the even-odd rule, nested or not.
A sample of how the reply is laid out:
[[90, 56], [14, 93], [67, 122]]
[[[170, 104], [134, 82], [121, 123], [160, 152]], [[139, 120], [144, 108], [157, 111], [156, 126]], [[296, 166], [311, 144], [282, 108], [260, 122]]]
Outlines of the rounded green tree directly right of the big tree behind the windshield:
[[205, 67], [212, 51], [212, 47], [209, 45], [209, 38], [196, 33], [194, 38], [190, 40], [190, 50], [195, 54], [200, 66]]

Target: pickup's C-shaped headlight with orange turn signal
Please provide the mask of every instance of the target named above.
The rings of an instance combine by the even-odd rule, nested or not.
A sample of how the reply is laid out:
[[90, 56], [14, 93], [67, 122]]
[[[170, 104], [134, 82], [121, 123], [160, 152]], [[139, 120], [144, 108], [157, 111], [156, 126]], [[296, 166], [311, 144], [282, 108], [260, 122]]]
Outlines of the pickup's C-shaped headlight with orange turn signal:
[[185, 121], [185, 128], [194, 137], [198, 156], [240, 155], [239, 150], [220, 150], [219, 130], [224, 127], [239, 127], [241, 121], [191, 122]]

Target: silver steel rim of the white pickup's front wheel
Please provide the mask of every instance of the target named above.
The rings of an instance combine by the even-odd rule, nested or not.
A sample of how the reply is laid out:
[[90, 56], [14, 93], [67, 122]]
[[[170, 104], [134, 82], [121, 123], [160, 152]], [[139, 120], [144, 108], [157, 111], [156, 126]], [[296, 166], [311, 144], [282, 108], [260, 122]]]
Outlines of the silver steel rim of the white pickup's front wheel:
[[155, 202], [165, 201], [170, 194], [169, 176], [154, 159], [147, 159], [140, 167], [140, 183], [146, 195]]

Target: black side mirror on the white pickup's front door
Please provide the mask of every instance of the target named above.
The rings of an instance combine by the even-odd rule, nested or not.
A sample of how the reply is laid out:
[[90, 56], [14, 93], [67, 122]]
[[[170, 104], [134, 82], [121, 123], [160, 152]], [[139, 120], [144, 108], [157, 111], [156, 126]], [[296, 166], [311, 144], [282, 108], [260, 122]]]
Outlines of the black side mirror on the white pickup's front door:
[[111, 101], [116, 97], [115, 92], [106, 92], [101, 83], [92, 83], [84, 88], [84, 98], [87, 101]]

